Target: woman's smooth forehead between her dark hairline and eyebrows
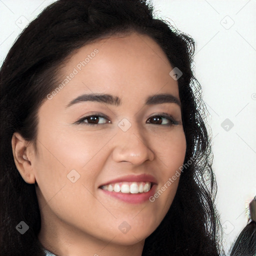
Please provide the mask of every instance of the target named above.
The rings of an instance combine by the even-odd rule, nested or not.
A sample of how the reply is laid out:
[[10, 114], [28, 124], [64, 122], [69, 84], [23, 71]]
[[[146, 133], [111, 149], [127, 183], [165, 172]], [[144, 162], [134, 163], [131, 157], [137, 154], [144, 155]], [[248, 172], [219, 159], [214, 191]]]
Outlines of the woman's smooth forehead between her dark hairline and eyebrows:
[[[82, 46], [60, 71], [63, 98], [79, 93], [110, 93], [120, 98], [155, 93], [178, 97], [177, 81], [165, 53], [149, 36], [133, 32]], [[146, 96], [145, 96], [146, 97]]]

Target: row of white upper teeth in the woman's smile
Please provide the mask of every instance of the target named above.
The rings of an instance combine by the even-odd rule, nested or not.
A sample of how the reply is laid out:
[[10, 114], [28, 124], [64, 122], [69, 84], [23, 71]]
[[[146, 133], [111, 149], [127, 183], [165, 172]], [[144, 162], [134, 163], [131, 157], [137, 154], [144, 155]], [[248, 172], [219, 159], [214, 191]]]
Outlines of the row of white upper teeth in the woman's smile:
[[151, 188], [151, 182], [118, 182], [114, 184], [103, 185], [102, 189], [107, 191], [122, 193], [142, 193], [147, 192]]

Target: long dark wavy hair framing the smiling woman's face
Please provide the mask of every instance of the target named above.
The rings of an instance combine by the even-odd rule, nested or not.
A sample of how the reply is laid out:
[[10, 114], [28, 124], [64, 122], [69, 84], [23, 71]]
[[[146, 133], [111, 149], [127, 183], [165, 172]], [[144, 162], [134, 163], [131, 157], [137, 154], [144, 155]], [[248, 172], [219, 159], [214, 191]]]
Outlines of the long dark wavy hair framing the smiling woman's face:
[[[193, 74], [194, 40], [167, 21], [153, 18], [145, 0], [58, 0], [22, 31], [0, 69], [1, 256], [44, 255], [37, 239], [40, 211], [35, 184], [26, 183], [14, 164], [15, 131], [36, 146], [37, 110], [58, 84], [60, 65], [93, 40], [137, 31], [153, 38], [177, 80], [186, 154], [174, 200], [156, 230], [145, 239], [142, 255], [219, 255], [221, 228], [214, 206], [210, 137], [201, 87]], [[20, 234], [16, 225], [29, 229]]]

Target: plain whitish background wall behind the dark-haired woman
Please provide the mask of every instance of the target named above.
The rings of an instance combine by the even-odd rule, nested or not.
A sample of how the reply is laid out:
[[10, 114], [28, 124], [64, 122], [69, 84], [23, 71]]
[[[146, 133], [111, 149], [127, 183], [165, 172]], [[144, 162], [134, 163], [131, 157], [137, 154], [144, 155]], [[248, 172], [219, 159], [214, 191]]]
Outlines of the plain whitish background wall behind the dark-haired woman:
[[[27, 22], [51, 2], [0, 0], [0, 64]], [[247, 223], [246, 203], [256, 195], [256, 0], [153, 0], [153, 4], [156, 17], [167, 19], [196, 41], [196, 77], [210, 112], [216, 204], [227, 252]]]

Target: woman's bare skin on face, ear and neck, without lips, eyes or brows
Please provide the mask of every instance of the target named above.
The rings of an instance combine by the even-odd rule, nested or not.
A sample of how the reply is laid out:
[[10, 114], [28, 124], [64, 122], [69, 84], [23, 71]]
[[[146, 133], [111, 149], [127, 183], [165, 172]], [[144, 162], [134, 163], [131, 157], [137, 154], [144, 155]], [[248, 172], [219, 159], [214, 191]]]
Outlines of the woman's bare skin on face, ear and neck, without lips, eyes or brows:
[[[98, 53], [86, 66], [40, 106], [37, 152], [19, 133], [13, 134], [14, 161], [25, 182], [38, 184], [38, 239], [45, 248], [68, 256], [138, 256], [169, 209], [179, 178], [154, 202], [138, 204], [107, 196], [98, 186], [123, 175], [147, 173], [156, 178], [157, 191], [183, 164], [186, 141], [180, 106], [145, 105], [153, 94], [170, 93], [179, 99], [178, 85], [159, 45], [135, 32], [79, 48], [61, 69], [61, 77], [95, 48]], [[122, 104], [84, 101], [66, 107], [91, 92], [118, 96]], [[75, 124], [92, 113], [106, 115], [110, 123], [100, 118], [98, 126]], [[178, 124], [157, 124], [150, 118], [161, 113]], [[131, 124], [127, 131], [118, 126], [123, 118]], [[72, 169], [80, 175], [74, 183], [67, 178]], [[123, 221], [130, 226], [126, 233], [118, 228]]]

